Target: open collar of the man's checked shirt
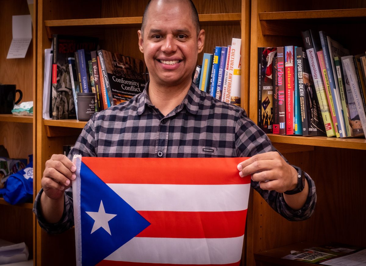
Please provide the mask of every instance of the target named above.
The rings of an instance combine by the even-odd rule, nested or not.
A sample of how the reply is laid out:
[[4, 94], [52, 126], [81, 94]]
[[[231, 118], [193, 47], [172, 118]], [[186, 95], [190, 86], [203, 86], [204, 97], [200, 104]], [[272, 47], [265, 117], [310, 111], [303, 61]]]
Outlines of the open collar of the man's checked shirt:
[[[138, 99], [137, 103], [138, 115], [141, 115], [145, 111], [146, 105], [153, 106], [153, 104], [150, 101], [149, 95], [147, 94], [148, 89], [149, 89], [149, 82], [146, 83], [145, 90], [143, 90], [141, 96]], [[197, 86], [194, 83], [192, 83], [186, 97], [183, 99], [182, 103], [176, 107], [175, 109], [176, 113], [182, 111], [183, 107], [186, 106], [188, 112], [190, 112], [191, 114], [197, 114], [200, 96], [201, 91], [197, 88]]]

